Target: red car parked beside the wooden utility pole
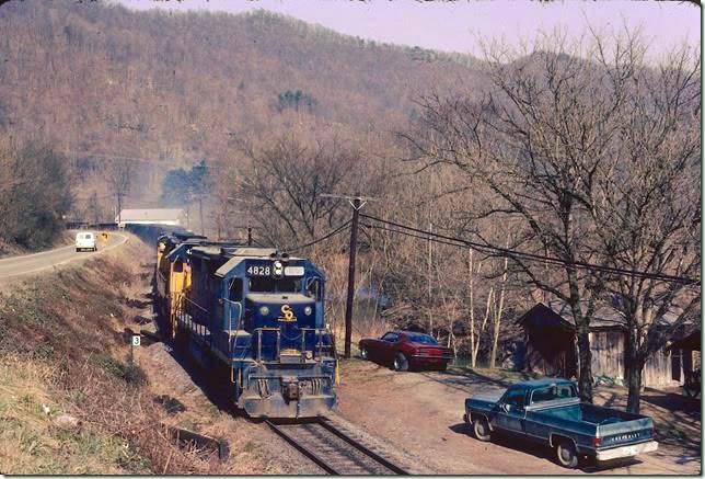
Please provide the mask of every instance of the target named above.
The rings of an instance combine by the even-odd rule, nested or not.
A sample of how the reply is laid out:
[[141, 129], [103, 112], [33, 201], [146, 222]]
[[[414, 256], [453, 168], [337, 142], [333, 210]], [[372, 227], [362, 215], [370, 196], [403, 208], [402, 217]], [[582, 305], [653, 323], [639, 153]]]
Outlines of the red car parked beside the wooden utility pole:
[[388, 332], [379, 340], [360, 341], [360, 356], [391, 365], [394, 370], [409, 368], [434, 368], [446, 370], [453, 358], [453, 352], [438, 345], [432, 337], [420, 332]]

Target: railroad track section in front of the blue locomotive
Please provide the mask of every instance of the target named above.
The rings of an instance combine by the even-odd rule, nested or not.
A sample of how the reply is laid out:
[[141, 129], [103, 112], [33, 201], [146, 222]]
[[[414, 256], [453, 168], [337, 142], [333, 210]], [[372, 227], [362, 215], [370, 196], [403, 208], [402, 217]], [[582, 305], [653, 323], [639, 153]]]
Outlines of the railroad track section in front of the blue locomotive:
[[275, 424], [277, 434], [331, 475], [408, 475], [407, 471], [370, 451], [349, 433], [325, 418], [307, 422]]

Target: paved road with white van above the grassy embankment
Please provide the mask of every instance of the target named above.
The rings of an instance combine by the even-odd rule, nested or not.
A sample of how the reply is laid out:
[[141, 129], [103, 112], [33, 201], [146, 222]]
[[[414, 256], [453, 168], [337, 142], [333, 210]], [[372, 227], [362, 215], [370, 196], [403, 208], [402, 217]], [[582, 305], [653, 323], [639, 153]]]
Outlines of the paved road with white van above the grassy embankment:
[[111, 231], [107, 244], [99, 240], [97, 251], [95, 252], [77, 252], [76, 247], [71, 244], [68, 247], [57, 248], [55, 250], [43, 251], [41, 253], [0, 260], [0, 280], [20, 276], [27, 273], [37, 273], [42, 270], [58, 266], [59, 264], [93, 258], [96, 254], [101, 254], [123, 244], [125, 241], [127, 241], [127, 237]]

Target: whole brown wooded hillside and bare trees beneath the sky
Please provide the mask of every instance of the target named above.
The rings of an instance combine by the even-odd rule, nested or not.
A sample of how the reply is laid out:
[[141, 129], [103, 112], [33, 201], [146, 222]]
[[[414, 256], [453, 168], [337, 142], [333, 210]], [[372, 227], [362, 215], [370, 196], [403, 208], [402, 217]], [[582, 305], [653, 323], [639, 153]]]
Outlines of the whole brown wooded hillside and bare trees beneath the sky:
[[[596, 308], [622, 305], [625, 364], [643, 365], [700, 305], [701, 67], [686, 45], [654, 64], [637, 32], [553, 34], [476, 61], [265, 12], [69, 1], [3, 4], [0, 32], [4, 241], [31, 246], [68, 210], [196, 218], [203, 203], [210, 237], [254, 227], [323, 265], [339, 331], [351, 212], [325, 193], [359, 192], [375, 201], [356, 334], [425, 330], [496, 366], [513, 319], [559, 298], [586, 399]], [[683, 313], [662, 333], [671, 307]], [[624, 374], [632, 410], [640, 370]]]

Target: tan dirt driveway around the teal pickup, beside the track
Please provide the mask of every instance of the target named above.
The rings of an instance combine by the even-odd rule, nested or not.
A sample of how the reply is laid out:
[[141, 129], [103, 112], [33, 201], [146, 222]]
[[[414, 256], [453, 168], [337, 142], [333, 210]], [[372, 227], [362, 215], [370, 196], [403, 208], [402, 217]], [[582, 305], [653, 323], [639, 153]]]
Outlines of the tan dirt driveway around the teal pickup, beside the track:
[[[350, 360], [343, 364], [337, 414], [370, 434], [385, 440], [416, 457], [436, 474], [459, 475], [563, 475], [553, 452], [510, 438], [482, 443], [463, 423], [464, 399], [477, 392], [497, 390], [513, 380], [517, 373], [394, 373], [374, 363]], [[622, 390], [623, 391], [623, 390]], [[598, 390], [596, 402], [619, 406], [620, 389]], [[659, 425], [683, 420], [668, 410], [654, 410], [645, 402], [643, 411]], [[664, 412], [666, 411], [666, 412]], [[598, 469], [587, 465], [575, 474], [609, 475], [696, 475], [701, 471], [700, 414], [687, 419], [697, 443], [684, 447], [680, 441], [660, 441], [657, 453], [635, 459], [613, 461]], [[669, 437], [670, 438], [670, 437]], [[660, 440], [660, 437], [659, 437]]]

